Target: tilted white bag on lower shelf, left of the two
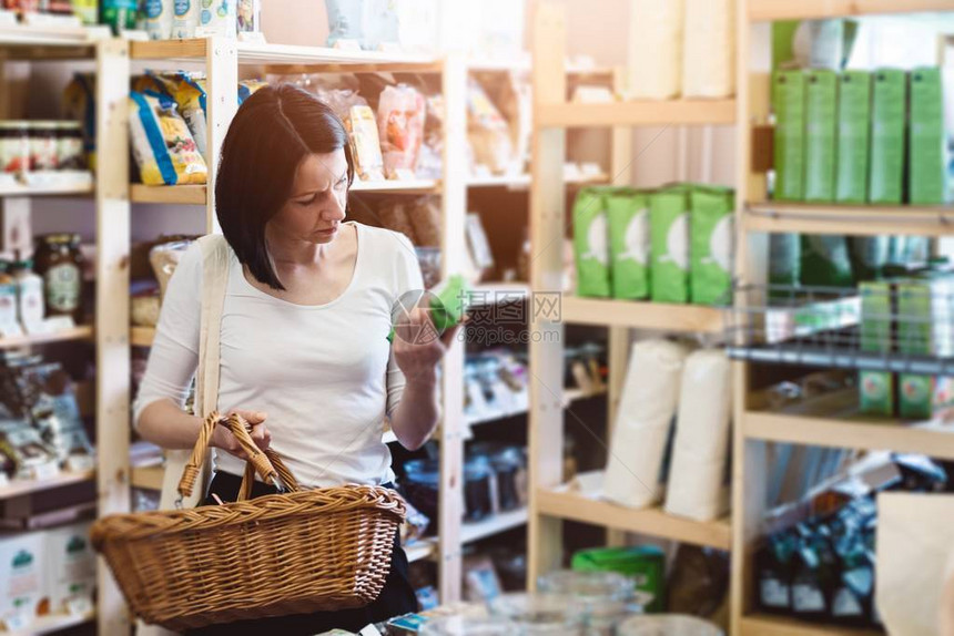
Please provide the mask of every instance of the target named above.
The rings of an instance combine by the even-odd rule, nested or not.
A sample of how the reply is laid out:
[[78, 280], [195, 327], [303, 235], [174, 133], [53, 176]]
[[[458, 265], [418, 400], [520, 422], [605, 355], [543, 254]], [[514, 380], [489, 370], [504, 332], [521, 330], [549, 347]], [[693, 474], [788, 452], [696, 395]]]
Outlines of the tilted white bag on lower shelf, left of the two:
[[609, 447], [607, 500], [642, 507], [659, 499], [659, 469], [687, 353], [668, 340], [633, 343]]

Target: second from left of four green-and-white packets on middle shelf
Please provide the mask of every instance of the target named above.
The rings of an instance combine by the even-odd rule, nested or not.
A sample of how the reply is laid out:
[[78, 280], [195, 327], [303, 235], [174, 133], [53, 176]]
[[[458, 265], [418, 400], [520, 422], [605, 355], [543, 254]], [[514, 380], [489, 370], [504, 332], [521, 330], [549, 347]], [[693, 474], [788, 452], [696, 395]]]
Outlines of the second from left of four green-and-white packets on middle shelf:
[[605, 191], [613, 298], [649, 296], [649, 196], [632, 188]]

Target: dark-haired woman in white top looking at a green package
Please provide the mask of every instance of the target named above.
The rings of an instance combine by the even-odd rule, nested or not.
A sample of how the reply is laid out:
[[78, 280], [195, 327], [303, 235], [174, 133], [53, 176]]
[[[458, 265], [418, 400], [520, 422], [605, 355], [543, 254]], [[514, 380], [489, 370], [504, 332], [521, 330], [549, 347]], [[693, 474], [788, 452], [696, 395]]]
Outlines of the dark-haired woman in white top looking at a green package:
[[[294, 86], [265, 88], [238, 109], [222, 146], [216, 214], [231, 247], [221, 322], [219, 409], [244, 417], [305, 486], [390, 484], [385, 418], [408, 449], [438, 418], [437, 362], [456, 332], [388, 342], [392, 307], [423, 288], [402, 234], [346, 222], [354, 163], [334, 112]], [[170, 281], [134, 421], [166, 449], [195, 444], [201, 420], [183, 411], [199, 360], [202, 255], [193, 246]], [[427, 320], [419, 311], [413, 321]], [[406, 326], [405, 326], [406, 327]], [[242, 451], [224, 427], [212, 438], [214, 496], [235, 501]], [[256, 482], [253, 494], [274, 492]], [[378, 598], [359, 609], [233, 623], [199, 633], [357, 632], [414, 612], [407, 558], [395, 537]], [[240, 632], [241, 633], [241, 632]]]

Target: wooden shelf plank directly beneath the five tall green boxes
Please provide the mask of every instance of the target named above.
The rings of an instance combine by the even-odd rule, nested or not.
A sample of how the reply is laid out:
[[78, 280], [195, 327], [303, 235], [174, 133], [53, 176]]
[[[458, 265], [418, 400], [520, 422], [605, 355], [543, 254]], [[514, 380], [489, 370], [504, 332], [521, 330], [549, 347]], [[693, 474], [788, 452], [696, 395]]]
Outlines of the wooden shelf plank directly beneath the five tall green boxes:
[[881, 206], [764, 202], [743, 213], [747, 232], [849, 236], [954, 234], [954, 206]]

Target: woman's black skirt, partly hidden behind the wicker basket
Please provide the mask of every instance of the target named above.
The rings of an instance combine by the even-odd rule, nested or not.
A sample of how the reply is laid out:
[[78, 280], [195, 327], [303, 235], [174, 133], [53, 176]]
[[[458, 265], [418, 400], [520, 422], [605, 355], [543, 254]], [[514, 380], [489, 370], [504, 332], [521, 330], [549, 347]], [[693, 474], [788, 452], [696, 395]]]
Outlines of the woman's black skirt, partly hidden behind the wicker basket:
[[[214, 505], [217, 502], [212, 494], [219, 495], [223, 502], [234, 502], [238, 496], [238, 488], [242, 478], [226, 472], [217, 472], [209, 485], [209, 494], [203, 502], [205, 505]], [[274, 494], [276, 490], [262, 482], [255, 482], [252, 488], [252, 499], [266, 494]], [[414, 587], [407, 579], [407, 555], [400, 547], [400, 533], [394, 533], [394, 552], [390, 560], [390, 573], [384, 583], [384, 588], [376, 599], [371, 604], [356, 609], [342, 609], [338, 612], [316, 612], [314, 614], [294, 614], [291, 616], [277, 616], [274, 618], [257, 618], [253, 620], [237, 620], [222, 625], [210, 625], [199, 629], [186, 632], [189, 635], [213, 636], [217, 634], [257, 634], [257, 635], [313, 635], [328, 632], [331, 629], [347, 629], [358, 632], [369, 623], [380, 623], [407, 614], [417, 612], [417, 597]]]

